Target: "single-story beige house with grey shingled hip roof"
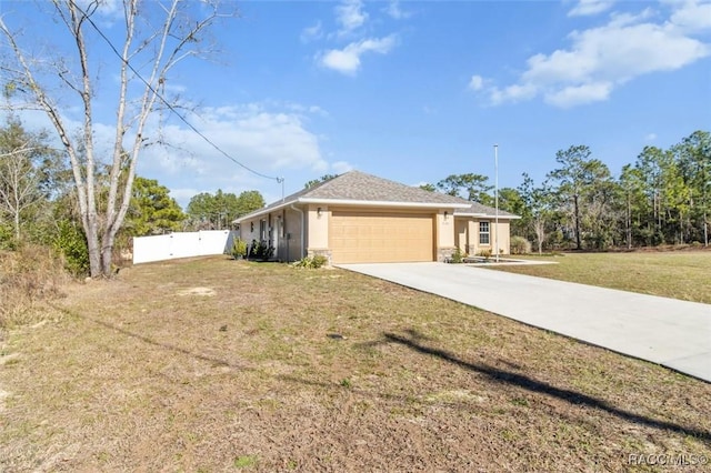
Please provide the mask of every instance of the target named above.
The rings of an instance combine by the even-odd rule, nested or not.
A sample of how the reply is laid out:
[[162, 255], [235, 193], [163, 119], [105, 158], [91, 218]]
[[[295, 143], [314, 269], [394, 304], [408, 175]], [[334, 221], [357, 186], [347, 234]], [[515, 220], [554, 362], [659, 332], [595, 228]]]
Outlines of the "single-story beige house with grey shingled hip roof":
[[234, 221], [238, 235], [294, 261], [322, 254], [333, 264], [444, 261], [455, 250], [509, 253], [517, 215], [359, 171], [304, 189]]

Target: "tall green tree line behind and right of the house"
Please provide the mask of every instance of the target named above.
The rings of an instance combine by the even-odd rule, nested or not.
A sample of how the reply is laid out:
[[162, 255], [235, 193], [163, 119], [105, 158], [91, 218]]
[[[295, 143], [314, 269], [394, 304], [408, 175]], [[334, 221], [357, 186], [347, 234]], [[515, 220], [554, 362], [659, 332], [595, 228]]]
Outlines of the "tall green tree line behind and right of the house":
[[[694, 131], [667, 150], [644, 147], [619, 177], [587, 145], [555, 153], [537, 183], [528, 174], [499, 190], [501, 210], [520, 215], [512, 234], [545, 249], [607, 250], [661, 244], [709, 245], [711, 134]], [[452, 174], [422, 189], [493, 205], [481, 174]]]

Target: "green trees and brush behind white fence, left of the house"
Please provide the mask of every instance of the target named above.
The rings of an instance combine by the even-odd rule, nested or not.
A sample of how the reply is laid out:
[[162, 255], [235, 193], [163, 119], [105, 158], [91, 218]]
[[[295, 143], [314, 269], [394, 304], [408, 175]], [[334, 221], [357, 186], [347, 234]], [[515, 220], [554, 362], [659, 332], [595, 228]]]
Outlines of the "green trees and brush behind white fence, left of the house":
[[[53, 248], [71, 272], [83, 275], [90, 271], [89, 250], [71, 167], [62, 150], [48, 143], [46, 132], [27, 131], [12, 115], [0, 127], [0, 250], [24, 243]], [[108, 212], [109, 180], [107, 167], [98, 167], [93, 181], [100, 221]], [[119, 184], [126, 185], [124, 180], [120, 175]], [[112, 259], [131, 248], [133, 236], [230, 228], [232, 220], [263, 205], [258, 191], [236, 195], [218, 190], [194, 195], [183, 211], [168, 188], [137, 175]]]

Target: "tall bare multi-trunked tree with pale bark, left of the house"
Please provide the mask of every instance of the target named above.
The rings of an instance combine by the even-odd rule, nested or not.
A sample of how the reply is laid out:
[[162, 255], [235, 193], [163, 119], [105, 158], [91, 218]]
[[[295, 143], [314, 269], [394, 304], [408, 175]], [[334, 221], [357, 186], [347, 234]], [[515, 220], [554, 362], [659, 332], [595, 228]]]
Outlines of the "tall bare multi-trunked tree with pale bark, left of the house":
[[[31, 108], [47, 114], [69, 155], [92, 276], [111, 274], [113, 243], [129, 209], [138, 159], [147, 143], [156, 140], [146, 135], [147, 123], [161, 109], [174, 110], [176, 103], [166, 102], [163, 95], [169, 73], [184, 59], [204, 52], [202, 37], [217, 20], [236, 16], [210, 1], [123, 0], [121, 19], [116, 22], [122, 43], [113, 46], [100, 28], [103, 4], [102, 0], [52, 1], [54, 17], [71, 38], [76, 62], [61, 57], [32, 57], [22, 48], [21, 36], [11, 31], [0, 17], [0, 31], [12, 59], [3, 66], [8, 76], [6, 88], [27, 95]], [[156, 18], [160, 18], [160, 23], [151, 22]], [[94, 142], [93, 104], [98, 78], [107, 69], [90, 57], [89, 46], [94, 46], [94, 41], [108, 43], [119, 58], [116, 134], [106, 163], [109, 169], [106, 208], [98, 202], [101, 189], [97, 173], [102, 162], [97, 152], [100, 144]], [[49, 71], [43, 69], [48, 63]], [[57, 81], [61, 88], [54, 87]], [[76, 104], [83, 114], [78, 138], [69, 129], [60, 105], [70, 95], [78, 99]]]

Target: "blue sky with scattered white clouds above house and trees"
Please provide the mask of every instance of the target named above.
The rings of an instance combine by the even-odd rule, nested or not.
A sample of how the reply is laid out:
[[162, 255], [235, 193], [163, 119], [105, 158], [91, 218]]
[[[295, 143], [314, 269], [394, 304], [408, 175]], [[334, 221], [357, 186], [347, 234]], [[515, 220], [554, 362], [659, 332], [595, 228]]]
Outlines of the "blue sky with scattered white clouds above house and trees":
[[[109, 38], [120, 27], [116, 1], [101, 10]], [[41, 57], [68, 43], [37, 6], [3, 0], [0, 14]], [[494, 184], [494, 144], [501, 188], [519, 185], [524, 172], [541, 182], [557, 151], [578, 144], [617, 175], [645, 145], [711, 130], [708, 1], [229, 6], [239, 18], [211, 30], [210, 58], [181, 62], [166, 87], [192, 108], [181, 109], [186, 120], [262, 175], [169, 120], [160, 137], [170, 147], [147, 148], [138, 173], [183, 207], [218, 189], [258, 190], [270, 202], [353, 169], [411, 185], [467, 172]], [[101, 64], [97, 137], [109, 143], [117, 58], [99, 38], [91, 48]], [[78, 125], [80, 110], [66, 100], [62, 113]], [[40, 115], [22, 119], [49, 128]]]

